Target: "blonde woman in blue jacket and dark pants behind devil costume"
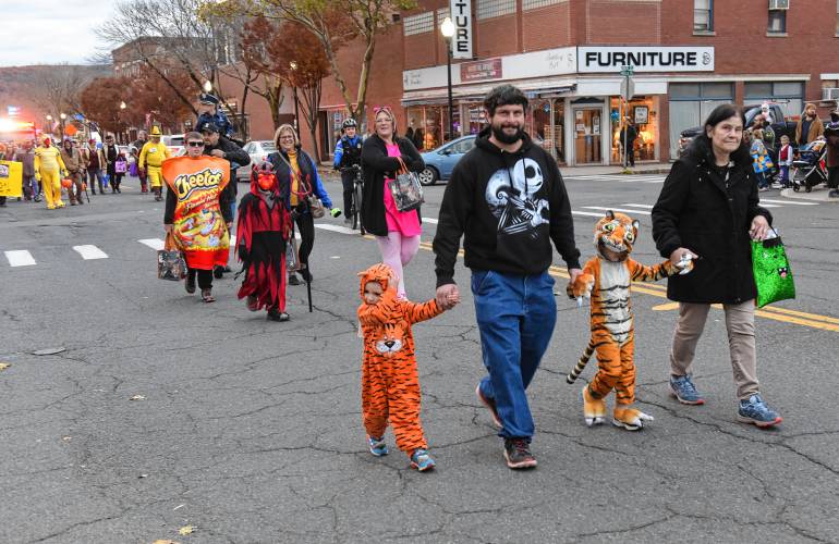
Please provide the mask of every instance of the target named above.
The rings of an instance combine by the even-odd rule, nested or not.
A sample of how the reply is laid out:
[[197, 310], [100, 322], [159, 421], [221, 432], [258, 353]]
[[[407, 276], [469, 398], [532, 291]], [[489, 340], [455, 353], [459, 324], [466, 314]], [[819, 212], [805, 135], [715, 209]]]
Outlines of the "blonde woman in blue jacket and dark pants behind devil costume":
[[[285, 208], [291, 212], [294, 223], [300, 230], [300, 262], [303, 264], [301, 275], [306, 282], [312, 282], [312, 273], [308, 270], [308, 256], [315, 246], [315, 218], [312, 214], [313, 200], [320, 199], [323, 206], [330, 210], [333, 218], [341, 214], [341, 210], [332, 207], [317, 166], [312, 157], [300, 146], [296, 131], [290, 124], [281, 125], [273, 134], [277, 151], [268, 156], [268, 162], [273, 166], [279, 184], [279, 193], [288, 195]], [[300, 279], [292, 272], [289, 275], [290, 285], [300, 285]]]

